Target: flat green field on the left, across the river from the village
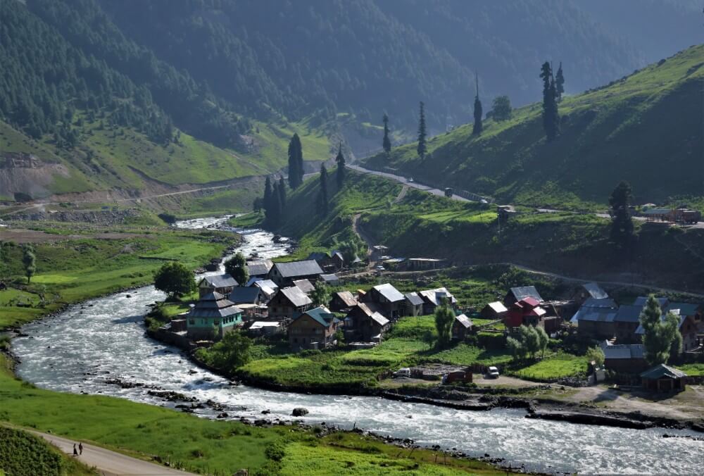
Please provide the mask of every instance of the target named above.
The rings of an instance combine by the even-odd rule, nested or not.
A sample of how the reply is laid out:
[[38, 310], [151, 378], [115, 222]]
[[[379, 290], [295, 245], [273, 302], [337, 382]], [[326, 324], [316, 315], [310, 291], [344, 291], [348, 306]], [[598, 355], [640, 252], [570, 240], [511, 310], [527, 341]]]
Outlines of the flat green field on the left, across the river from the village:
[[68, 303], [149, 284], [154, 271], [168, 260], [197, 268], [237, 242], [231, 233], [165, 227], [115, 228], [109, 239], [90, 232], [89, 227], [56, 225], [52, 231], [70, 235], [58, 242], [34, 245], [37, 273], [30, 284], [23, 276], [21, 247], [7, 247], [7, 264], [1, 274], [11, 287], [0, 291], [0, 330], [22, 325]]

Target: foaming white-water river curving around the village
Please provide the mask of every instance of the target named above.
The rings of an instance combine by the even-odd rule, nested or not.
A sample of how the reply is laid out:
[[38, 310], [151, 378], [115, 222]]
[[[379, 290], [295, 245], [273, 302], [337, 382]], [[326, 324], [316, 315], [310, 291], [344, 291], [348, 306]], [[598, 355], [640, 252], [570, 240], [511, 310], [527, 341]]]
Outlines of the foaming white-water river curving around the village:
[[[179, 227], [213, 227], [220, 219], [188, 220]], [[261, 230], [243, 233], [240, 250], [273, 258], [286, 253]], [[130, 297], [127, 297], [127, 294]], [[60, 392], [103, 394], [174, 406], [149, 394], [172, 391], [199, 401], [220, 403], [229, 418], [288, 420], [296, 407], [310, 413], [298, 418], [344, 428], [356, 424], [381, 435], [410, 438], [417, 444], [439, 444], [473, 456], [489, 453], [513, 466], [542, 472], [620, 474], [702, 474], [704, 441], [662, 438], [663, 430], [629, 430], [524, 418], [524, 411], [458, 411], [421, 403], [367, 396], [307, 395], [270, 392], [228, 380], [196, 367], [178, 349], [149, 339], [142, 316], [147, 306], [163, 299], [153, 287], [92, 299], [61, 314], [23, 327], [28, 337], [13, 340], [20, 358], [18, 375], [39, 387]], [[122, 388], [114, 380], [141, 384]], [[113, 382], [113, 383], [111, 383]], [[264, 410], [269, 415], [262, 415]], [[223, 410], [206, 406], [195, 413], [215, 418]], [[668, 434], [701, 436], [667, 430]]]

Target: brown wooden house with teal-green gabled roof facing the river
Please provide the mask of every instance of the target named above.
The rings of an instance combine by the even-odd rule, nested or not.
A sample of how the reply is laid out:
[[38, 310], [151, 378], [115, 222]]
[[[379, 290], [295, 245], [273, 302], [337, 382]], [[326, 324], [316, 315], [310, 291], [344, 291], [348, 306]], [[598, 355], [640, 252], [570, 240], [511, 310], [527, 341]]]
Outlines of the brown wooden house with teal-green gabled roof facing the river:
[[326, 349], [336, 344], [339, 324], [340, 320], [323, 306], [298, 315], [289, 325], [291, 349]]

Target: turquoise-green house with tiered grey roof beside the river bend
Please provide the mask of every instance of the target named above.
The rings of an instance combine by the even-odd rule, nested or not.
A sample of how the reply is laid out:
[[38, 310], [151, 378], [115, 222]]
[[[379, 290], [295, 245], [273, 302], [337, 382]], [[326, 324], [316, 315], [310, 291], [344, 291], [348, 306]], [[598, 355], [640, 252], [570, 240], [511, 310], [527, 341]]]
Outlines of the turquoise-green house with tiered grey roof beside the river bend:
[[219, 340], [242, 323], [242, 310], [218, 292], [201, 297], [185, 315], [186, 336], [194, 340]]

